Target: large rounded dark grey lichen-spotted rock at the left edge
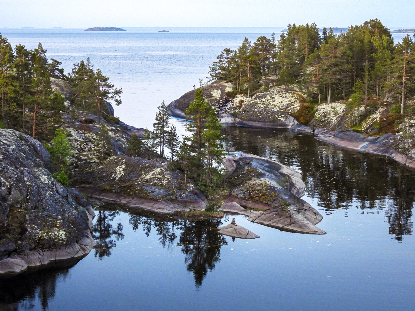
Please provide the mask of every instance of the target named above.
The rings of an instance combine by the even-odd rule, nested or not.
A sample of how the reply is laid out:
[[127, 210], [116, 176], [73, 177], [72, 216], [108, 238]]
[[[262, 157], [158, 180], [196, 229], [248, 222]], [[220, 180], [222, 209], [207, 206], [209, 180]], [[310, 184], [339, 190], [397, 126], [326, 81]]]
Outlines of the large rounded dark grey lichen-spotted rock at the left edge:
[[50, 170], [39, 141], [0, 129], [0, 273], [82, 256], [95, 245], [94, 211]]

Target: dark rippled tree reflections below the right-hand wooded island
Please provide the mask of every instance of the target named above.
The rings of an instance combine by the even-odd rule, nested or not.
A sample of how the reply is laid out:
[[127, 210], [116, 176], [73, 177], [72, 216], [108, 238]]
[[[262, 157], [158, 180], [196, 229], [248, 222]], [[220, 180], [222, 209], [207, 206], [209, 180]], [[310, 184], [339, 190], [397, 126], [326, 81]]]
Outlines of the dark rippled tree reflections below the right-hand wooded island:
[[395, 161], [349, 151], [293, 131], [224, 128], [229, 151], [273, 158], [303, 173], [307, 194], [331, 213], [352, 206], [384, 209], [396, 241], [412, 234], [415, 175]]

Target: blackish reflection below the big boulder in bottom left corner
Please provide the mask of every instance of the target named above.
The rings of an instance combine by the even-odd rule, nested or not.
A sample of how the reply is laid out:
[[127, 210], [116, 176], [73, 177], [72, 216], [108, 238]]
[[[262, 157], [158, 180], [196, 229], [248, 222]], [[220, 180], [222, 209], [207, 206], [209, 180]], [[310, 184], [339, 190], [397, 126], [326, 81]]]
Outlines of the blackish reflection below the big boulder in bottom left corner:
[[14, 277], [0, 278], [0, 310], [31, 310], [36, 297], [42, 310], [49, 307], [54, 298], [56, 285], [68, 275], [80, 258], [61, 260], [31, 272]]

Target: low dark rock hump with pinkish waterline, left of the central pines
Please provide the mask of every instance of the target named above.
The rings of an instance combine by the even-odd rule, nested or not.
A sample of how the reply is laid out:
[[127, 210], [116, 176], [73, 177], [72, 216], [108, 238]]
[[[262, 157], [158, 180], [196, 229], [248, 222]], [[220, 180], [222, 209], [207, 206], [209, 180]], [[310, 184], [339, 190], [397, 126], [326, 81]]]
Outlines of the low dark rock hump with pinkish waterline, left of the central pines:
[[80, 191], [95, 199], [158, 213], [204, 210], [208, 205], [195, 183], [184, 184], [183, 173], [171, 171], [161, 158], [112, 156], [80, 173], [78, 182], [83, 183]]

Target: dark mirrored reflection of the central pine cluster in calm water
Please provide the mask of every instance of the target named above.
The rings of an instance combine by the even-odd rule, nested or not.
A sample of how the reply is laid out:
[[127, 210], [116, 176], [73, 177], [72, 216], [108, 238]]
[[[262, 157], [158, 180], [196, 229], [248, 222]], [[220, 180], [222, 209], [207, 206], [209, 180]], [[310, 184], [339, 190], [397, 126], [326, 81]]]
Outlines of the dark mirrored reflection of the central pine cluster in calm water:
[[[226, 238], [217, 233], [217, 227], [222, 225], [220, 219], [203, 221], [168, 220], [160, 221], [150, 217], [129, 215], [129, 224], [134, 232], [141, 226], [146, 236], [154, 228], [160, 236], [159, 242], [163, 247], [180, 246], [186, 255], [187, 270], [193, 273], [196, 286], [202, 285], [207, 271], [215, 269], [220, 261], [220, 248], [227, 244]], [[180, 231], [179, 240], [174, 244]]]

